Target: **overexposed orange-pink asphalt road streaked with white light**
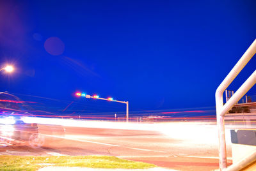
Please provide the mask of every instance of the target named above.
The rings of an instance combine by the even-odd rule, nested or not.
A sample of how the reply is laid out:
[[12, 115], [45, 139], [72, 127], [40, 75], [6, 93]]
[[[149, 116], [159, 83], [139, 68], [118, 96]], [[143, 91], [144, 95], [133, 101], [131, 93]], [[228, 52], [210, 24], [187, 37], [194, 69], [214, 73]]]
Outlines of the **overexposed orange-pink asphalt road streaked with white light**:
[[[218, 136], [215, 125], [161, 123], [136, 126], [129, 128], [126, 124], [125, 127], [129, 130], [65, 126], [65, 136], [61, 136], [47, 132], [49, 126], [41, 124], [40, 130], [46, 135], [42, 147], [32, 148], [22, 142], [12, 145], [2, 143], [0, 154], [108, 155], [154, 163], [159, 167], [175, 170], [218, 168]], [[231, 147], [228, 141], [227, 154], [228, 163], [231, 164]]]

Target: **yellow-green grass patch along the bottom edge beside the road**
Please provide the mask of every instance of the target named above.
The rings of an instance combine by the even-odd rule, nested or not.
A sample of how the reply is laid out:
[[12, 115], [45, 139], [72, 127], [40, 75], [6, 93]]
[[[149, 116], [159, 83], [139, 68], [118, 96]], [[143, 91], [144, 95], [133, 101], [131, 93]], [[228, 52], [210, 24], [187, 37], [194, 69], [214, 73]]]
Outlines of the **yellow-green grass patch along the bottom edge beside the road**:
[[53, 167], [152, 168], [156, 165], [113, 156], [0, 156], [0, 170], [38, 170]]

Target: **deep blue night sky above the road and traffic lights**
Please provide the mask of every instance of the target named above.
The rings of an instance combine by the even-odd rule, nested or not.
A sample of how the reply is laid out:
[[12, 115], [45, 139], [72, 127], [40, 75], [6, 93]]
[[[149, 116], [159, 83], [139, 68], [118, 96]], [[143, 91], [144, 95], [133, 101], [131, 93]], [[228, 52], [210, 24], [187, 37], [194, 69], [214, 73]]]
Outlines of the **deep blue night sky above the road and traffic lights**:
[[[1, 1], [0, 63], [16, 70], [0, 74], [0, 91], [86, 105], [92, 100], [74, 97], [84, 91], [129, 101], [131, 111], [214, 107], [218, 85], [256, 38], [255, 8], [255, 1]], [[255, 66], [253, 57], [229, 89]]]

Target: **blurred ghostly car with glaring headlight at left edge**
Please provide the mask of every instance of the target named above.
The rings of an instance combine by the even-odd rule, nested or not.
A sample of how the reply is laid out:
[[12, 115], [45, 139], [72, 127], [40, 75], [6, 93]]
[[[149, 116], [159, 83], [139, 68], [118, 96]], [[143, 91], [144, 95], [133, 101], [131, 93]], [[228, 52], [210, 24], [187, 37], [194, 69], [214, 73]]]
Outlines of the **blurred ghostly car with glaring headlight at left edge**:
[[45, 143], [46, 135], [48, 137], [65, 135], [65, 129], [62, 126], [45, 125], [40, 131], [38, 124], [25, 122], [28, 117], [36, 118], [35, 115], [31, 114], [31, 111], [35, 110], [31, 110], [17, 96], [10, 93], [0, 93], [0, 140], [25, 142], [31, 147], [41, 147]]

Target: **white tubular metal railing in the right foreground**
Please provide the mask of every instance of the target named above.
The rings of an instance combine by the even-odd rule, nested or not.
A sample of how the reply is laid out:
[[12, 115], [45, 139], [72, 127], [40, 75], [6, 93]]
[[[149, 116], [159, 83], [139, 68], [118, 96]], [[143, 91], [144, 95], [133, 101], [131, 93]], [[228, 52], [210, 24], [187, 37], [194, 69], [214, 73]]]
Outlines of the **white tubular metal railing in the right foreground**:
[[[252, 59], [254, 54], [256, 53], [256, 40], [253, 41], [252, 45], [246, 50], [241, 59], [237, 62], [234, 68], [228, 73], [227, 77], [221, 82], [218, 89], [216, 90], [215, 98], [216, 98], [216, 115], [217, 115], [217, 126], [218, 126], [218, 137], [219, 137], [219, 158], [220, 158], [220, 170], [224, 170], [227, 168], [227, 150], [226, 150], [226, 142], [225, 142], [225, 114], [239, 101], [244, 94], [247, 93], [251, 89], [251, 87], [256, 84], [256, 70], [252, 73], [252, 75], [244, 82], [241, 87], [232, 95], [232, 97], [223, 105], [223, 93], [227, 89], [228, 85], [232, 83], [234, 78], [243, 70], [244, 66]], [[249, 157], [250, 158], [250, 157]], [[250, 164], [250, 160], [248, 158], [248, 162], [243, 160], [242, 163], [239, 163], [239, 168], [245, 167]], [[232, 165], [231, 170], [236, 170], [236, 165]]]

